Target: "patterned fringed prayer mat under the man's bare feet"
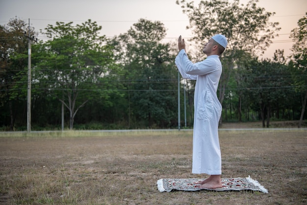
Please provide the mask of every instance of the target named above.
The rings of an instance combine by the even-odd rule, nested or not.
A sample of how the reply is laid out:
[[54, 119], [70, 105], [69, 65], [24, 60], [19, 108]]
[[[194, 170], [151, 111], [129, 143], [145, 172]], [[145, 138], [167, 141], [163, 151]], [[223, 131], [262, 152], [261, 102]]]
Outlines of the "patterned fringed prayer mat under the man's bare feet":
[[[162, 178], [157, 181], [158, 190], [160, 192], [170, 192], [173, 189], [181, 191], [198, 191], [201, 190], [199, 181], [201, 178]], [[229, 190], [253, 190], [268, 193], [268, 190], [259, 184], [258, 181], [252, 179], [250, 176], [246, 178], [222, 178], [222, 188], [207, 189], [215, 191], [229, 191]]]

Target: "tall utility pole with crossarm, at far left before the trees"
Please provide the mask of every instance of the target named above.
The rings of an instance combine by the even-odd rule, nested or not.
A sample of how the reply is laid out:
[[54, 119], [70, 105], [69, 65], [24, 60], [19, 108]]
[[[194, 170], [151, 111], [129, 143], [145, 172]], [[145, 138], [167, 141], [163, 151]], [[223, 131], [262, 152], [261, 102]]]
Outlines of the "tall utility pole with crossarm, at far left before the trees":
[[[26, 31], [25, 31], [26, 36]], [[27, 120], [26, 120], [26, 128], [27, 133], [29, 134], [31, 132], [31, 41], [34, 40], [37, 42], [37, 38], [34, 39], [34, 36], [31, 37], [31, 29], [30, 29], [30, 19], [29, 19], [29, 28], [28, 28], [28, 86], [27, 86]]]

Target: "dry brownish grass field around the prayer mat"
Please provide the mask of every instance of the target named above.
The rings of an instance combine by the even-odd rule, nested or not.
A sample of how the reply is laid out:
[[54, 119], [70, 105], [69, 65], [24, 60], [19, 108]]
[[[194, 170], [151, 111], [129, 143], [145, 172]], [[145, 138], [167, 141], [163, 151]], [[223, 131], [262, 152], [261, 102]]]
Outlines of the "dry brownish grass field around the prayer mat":
[[222, 177], [269, 193], [173, 191], [191, 174], [191, 131], [0, 133], [1, 205], [306, 205], [307, 130], [220, 131]]

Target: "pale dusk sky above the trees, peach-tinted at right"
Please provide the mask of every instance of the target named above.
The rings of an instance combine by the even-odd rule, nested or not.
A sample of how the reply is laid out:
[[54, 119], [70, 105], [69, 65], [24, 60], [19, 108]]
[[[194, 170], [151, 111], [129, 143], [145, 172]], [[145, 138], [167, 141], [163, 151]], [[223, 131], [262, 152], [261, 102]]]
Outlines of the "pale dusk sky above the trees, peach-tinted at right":
[[[190, 0], [189, 0], [190, 1]], [[200, 0], [194, 0], [198, 5]], [[246, 4], [248, 0], [240, 0]], [[273, 40], [261, 58], [273, 57], [275, 50], [283, 49], [285, 56], [291, 54], [293, 42], [289, 38], [292, 29], [297, 28], [297, 22], [307, 12], [307, 0], [259, 0], [257, 5], [267, 12], [276, 14], [270, 18], [279, 22], [281, 30], [279, 37]], [[188, 17], [176, 4], [176, 0], [0, 0], [0, 25], [5, 25], [12, 18], [18, 17], [28, 22], [36, 31], [45, 29], [55, 22], [74, 22], [81, 24], [88, 19], [102, 26], [101, 34], [113, 37], [128, 31], [134, 23], [144, 18], [151, 21], [161, 21], [167, 29], [164, 41], [176, 42], [179, 35], [186, 39], [192, 32], [186, 29]], [[38, 39], [46, 39], [39, 34]]]

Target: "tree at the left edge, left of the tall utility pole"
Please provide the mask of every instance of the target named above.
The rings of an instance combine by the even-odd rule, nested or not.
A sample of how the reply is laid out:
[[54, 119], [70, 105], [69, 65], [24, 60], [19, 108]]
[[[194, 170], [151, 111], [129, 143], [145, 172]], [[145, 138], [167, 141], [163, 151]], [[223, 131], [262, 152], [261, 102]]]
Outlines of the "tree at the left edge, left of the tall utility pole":
[[[14, 129], [17, 114], [23, 113], [26, 102], [26, 30], [26, 22], [17, 17], [0, 26], [0, 113], [3, 120], [0, 123], [8, 124], [10, 130]], [[33, 28], [30, 28], [30, 33], [35, 35]], [[9, 123], [6, 122], [7, 116]]]

